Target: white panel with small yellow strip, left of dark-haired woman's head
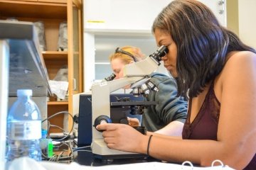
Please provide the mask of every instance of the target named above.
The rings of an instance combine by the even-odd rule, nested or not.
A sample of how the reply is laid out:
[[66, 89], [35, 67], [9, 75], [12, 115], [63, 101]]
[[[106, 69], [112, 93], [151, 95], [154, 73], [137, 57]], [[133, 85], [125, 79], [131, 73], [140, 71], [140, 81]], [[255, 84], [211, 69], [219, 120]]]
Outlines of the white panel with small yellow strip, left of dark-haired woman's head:
[[151, 30], [151, 23], [171, 0], [87, 0], [84, 26], [89, 29]]

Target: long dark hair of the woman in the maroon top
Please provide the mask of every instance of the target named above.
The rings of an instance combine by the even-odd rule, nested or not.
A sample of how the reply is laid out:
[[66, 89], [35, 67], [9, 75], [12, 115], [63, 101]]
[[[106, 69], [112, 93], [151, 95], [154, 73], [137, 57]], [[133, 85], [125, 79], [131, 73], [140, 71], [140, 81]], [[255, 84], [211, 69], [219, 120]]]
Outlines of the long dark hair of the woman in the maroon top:
[[172, 1], [156, 17], [152, 32], [156, 29], [169, 33], [177, 46], [178, 96], [187, 97], [188, 89], [189, 97], [198, 96], [221, 72], [228, 52], [255, 52], [195, 0]]

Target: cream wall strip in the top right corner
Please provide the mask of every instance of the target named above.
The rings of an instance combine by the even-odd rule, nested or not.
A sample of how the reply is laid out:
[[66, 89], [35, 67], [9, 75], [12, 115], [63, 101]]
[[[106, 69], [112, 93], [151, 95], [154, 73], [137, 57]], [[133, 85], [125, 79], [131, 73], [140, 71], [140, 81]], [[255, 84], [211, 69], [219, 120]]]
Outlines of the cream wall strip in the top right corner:
[[239, 37], [256, 49], [255, 0], [238, 0]]

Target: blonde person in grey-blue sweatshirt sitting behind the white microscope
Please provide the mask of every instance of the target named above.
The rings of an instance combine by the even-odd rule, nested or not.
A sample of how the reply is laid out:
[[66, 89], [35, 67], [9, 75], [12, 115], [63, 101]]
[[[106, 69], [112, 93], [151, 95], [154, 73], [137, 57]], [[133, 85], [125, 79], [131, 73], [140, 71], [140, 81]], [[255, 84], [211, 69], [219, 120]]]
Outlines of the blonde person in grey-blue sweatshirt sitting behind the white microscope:
[[[144, 60], [144, 57], [145, 55], [138, 47], [117, 47], [110, 55], [110, 64], [116, 75], [115, 79], [123, 77], [126, 64]], [[146, 101], [156, 101], [157, 104], [144, 110], [142, 126], [146, 127], [149, 132], [181, 136], [183, 123], [186, 120], [187, 101], [177, 96], [176, 81], [173, 77], [157, 72], [150, 76], [150, 81], [156, 85], [159, 91], [150, 91], [146, 96]], [[128, 121], [129, 125], [139, 125], [137, 118], [128, 118]]]

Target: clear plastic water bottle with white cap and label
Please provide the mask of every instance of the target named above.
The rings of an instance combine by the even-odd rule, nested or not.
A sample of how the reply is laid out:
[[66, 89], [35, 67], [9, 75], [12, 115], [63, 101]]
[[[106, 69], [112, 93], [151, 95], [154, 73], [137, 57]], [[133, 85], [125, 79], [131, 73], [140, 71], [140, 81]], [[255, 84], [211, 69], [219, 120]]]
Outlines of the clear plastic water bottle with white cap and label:
[[7, 116], [7, 162], [18, 157], [41, 161], [41, 113], [31, 100], [31, 89], [18, 89]]

